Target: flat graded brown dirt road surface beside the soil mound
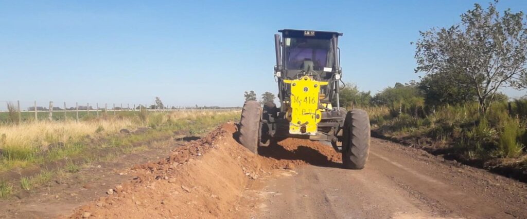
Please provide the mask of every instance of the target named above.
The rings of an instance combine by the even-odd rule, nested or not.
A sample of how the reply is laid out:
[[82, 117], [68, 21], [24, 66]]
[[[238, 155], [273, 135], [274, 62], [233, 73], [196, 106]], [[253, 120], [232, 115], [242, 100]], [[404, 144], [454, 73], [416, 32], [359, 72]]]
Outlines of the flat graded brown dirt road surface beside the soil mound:
[[[291, 147], [280, 142], [277, 148]], [[326, 153], [326, 154], [324, 154]], [[308, 154], [302, 154], [308, 155]], [[313, 151], [313, 157], [335, 152]], [[309, 159], [298, 157], [297, 159]], [[324, 160], [324, 159], [322, 159]], [[331, 160], [331, 159], [329, 159]], [[256, 218], [527, 218], [527, 185], [380, 139], [364, 170], [301, 166], [261, 189]], [[311, 162], [313, 163], [313, 162]]]

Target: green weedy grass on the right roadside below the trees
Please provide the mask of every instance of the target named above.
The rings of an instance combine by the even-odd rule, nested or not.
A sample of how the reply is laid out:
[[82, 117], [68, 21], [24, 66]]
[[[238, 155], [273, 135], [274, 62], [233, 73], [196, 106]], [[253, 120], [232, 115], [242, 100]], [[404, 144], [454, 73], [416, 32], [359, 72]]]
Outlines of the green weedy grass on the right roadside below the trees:
[[[477, 103], [423, 108], [421, 112], [366, 108], [377, 131], [399, 138], [430, 138], [467, 159], [518, 159], [527, 144], [527, 100], [495, 102], [484, 114]], [[381, 113], [379, 113], [381, 112]]]

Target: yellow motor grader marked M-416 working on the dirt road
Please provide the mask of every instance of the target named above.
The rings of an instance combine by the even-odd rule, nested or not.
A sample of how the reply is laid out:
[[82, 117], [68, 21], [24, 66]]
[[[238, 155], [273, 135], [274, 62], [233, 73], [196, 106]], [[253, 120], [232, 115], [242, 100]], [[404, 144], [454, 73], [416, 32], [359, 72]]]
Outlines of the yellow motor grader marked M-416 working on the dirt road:
[[280, 107], [246, 101], [239, 142], [253, 153], [271, 141], [322, 141], [342, 153], [344, 168], [363, 169], [368, 160], [370, 124], [364, 110], [340, 107], [342, 69], [338, 32], [282, 29], [275, 34]]

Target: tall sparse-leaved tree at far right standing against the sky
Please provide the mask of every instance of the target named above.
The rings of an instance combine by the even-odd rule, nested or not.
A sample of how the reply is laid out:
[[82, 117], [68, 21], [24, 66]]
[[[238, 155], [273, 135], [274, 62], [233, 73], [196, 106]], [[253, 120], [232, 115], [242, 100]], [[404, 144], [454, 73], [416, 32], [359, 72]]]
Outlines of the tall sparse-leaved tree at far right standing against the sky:
[[524, 14], [508, 9], [500, 16], [496, 4], [486, 10], [474, 4], [474, 9], [461, 15], [461, 25], [420, 32], [416, 43], [415, 71], [442, 75], [452, 85], [472, 90], [480, 113], [500, 88], [523, 89], [527, 81]]

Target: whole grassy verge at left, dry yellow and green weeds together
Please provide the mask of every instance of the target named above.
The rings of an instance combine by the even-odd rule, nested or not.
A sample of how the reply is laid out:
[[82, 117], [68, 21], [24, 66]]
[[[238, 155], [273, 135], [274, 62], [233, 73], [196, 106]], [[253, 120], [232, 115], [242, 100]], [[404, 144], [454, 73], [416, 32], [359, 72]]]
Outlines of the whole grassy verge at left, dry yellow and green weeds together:
[[[2, 173], [61, 161], [60, 170], [45, 170], [17, 180], [0, 181], [0, 198], [19, 188], [31, 191], [58, 172], [75, 173], [84, 164], [111, 160], [119, 153], [147, 150], [140, 142], [161, 140], [174, 134], [200, 135], [218, 124], [239, 119], [239, 111], [122, 112], [84, 117], [81, 121], [31, 121], [0, 124], [0, 178]], [[122, 130], [125, 130], [122, 132]], [[111, 148], [106, 155], [100, 150]], [[91, 155], [93, 154], [93, 155]], [[58, 172], [57, 172], [58, 171]]]

